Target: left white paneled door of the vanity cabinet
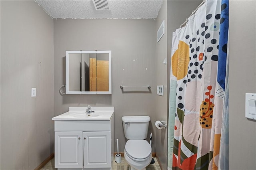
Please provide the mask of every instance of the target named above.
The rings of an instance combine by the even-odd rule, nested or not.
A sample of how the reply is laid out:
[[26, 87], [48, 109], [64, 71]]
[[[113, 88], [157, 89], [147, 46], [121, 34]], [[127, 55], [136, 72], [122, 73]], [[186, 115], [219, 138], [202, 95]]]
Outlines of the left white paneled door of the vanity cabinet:
[[82, 132], [55, 132], [55, 168], [83, 167]]

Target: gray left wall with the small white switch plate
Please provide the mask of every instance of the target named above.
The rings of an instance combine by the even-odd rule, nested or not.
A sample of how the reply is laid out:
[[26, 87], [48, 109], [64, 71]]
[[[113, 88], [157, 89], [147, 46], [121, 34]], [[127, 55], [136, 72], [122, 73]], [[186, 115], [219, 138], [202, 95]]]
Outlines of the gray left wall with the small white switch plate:
[[0, 169], [34, 169], [53, 152], [53, 20], [34, 1], [1, 1], [1, 49]]

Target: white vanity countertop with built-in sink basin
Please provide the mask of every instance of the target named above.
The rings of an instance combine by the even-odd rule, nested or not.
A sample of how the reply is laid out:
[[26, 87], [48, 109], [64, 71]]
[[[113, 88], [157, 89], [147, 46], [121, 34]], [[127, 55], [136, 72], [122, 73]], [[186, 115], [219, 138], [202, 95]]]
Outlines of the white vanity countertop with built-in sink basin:
[[53, 121], [109, 121], [114, 107], [91, 107], [94, 113], [85, 113], [87, 107], [69, 107], [69, 111], [53, 117]]

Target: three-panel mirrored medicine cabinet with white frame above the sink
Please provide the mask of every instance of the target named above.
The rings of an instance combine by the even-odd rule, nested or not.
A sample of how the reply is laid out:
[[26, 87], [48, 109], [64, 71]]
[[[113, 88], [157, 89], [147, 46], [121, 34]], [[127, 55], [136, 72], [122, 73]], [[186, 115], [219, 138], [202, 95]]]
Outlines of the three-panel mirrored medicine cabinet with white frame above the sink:
[[66, 51], [66, 94], [111, 94], [111, 51]]

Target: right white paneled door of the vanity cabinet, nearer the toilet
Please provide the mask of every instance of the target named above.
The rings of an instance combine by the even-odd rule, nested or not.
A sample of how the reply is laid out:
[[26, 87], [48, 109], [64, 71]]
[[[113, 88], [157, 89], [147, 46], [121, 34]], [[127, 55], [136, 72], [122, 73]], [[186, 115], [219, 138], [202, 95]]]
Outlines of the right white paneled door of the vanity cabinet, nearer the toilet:
[[110, 132], [83, 132], [84, 168], [111, 168]]

